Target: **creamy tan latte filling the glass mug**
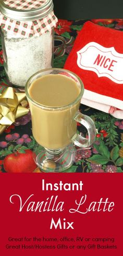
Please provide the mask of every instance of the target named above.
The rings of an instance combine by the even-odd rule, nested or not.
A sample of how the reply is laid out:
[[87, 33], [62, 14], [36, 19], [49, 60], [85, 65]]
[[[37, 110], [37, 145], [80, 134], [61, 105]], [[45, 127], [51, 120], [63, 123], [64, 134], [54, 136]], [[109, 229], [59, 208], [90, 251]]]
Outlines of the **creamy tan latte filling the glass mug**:
[[38, 77], [29, 87], [32, 132], [44, 148], [66, 147], [77, 131], [73, 117], [80, 105], [81, 87], [76, 79], [64, 74]]

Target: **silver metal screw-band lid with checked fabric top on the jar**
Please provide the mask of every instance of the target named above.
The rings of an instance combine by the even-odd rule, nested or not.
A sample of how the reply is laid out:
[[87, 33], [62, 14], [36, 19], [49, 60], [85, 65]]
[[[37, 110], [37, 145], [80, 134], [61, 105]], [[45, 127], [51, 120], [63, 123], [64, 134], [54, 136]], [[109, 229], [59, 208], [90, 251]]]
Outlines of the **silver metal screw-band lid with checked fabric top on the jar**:
[[13, 20], [37, 20], [53, 10], [52, 0], [1, 0], [1, 13]]

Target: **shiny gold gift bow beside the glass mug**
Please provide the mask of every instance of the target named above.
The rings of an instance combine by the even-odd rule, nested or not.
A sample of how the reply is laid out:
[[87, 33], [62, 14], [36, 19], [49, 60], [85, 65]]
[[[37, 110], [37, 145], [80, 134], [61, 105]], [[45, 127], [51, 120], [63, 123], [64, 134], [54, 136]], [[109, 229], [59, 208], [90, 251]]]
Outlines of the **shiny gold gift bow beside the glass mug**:
[[28, 102], [25, 93], [16, 93], [14, 88], [7, 89], [0, 94], [0, 134], [5, 128], [21, 116], [28, 114]]

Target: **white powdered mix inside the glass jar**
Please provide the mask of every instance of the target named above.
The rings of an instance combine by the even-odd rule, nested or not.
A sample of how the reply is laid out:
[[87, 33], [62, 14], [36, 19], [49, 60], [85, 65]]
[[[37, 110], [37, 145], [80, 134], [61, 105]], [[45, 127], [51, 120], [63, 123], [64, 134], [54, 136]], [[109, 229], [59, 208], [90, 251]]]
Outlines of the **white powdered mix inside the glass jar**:
[[[25, 86], [29, 77], [41, 69], [51, 68], [53, 52], [52, 32], [31, 38], [5, 37], [5, 70], [9, 82]], [[6, 68], [7, 67], [7, 68]]]

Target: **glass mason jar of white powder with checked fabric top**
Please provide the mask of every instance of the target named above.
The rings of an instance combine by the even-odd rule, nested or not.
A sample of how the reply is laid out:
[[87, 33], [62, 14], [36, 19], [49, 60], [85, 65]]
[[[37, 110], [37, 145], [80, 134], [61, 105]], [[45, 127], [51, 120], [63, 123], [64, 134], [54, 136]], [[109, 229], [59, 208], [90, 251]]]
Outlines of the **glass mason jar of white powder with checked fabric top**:
[[1, 40], [9, 84], [24, 87], [35, 72], [53, 66], [52, 0], [1, 0]]

